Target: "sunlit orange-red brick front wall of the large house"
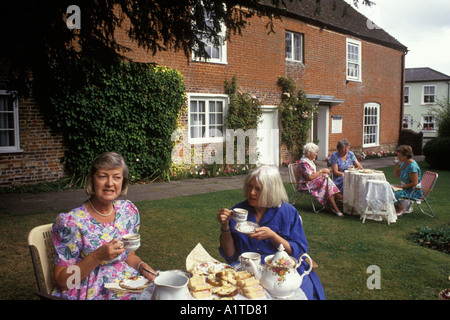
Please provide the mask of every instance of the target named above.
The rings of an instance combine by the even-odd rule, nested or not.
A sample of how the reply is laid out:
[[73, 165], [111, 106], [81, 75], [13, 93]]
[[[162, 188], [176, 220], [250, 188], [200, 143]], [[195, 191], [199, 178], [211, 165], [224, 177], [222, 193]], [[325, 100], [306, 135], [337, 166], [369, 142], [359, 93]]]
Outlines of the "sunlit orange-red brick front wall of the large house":
[[[253, 18], [242, 37], [232, 37], [227, 44], [226, 65], [194, 61], [188, 64], [182, 53], [173, 52], [152, 57], [135, 49], [130, 56], [136, 61], [156, 62], [180, 70], [187, 92], [224, 93], [224, 80], [231, 80], [236, 75], [242, 90], [254, 93], [263, 104], [278, 105], [281, 89], [277, 79], [285, 75], [295, 79], [298, 87], [307, 94], [343, 99], [343, 104], [330, 109], [330, 119], [333, 115], [343, 117], [343, 132], [331, 134], [329, 121], [329, 153], [335, 150], [342, 138], [350, 141], [352, 149], [362, 148], [364, 104], [378, 103], [381, 105], [380, 147], [370, 149], [395, 148], [403, 86], [402, 52], [291, 18], [275, 21], [275, 33], [267, 34], [266, 22], [265, 19]], [[285, 30], [304, 34], [304, 64], [285, 62]], [[346, 81], [347, 38], [361, 41], [361, 82]], [[282, 161], [291, 160], [284, 148], [280, 153]]]

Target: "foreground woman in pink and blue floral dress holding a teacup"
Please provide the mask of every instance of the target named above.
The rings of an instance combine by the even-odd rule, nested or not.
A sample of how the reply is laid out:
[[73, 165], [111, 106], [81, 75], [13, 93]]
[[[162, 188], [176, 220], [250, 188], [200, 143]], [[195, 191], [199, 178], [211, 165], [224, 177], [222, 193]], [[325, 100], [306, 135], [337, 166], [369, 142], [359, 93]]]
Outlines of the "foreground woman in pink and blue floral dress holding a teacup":
[[[128, 299], [104, 289], [105, 283], [153, 271], [132, 250], [139, 237], [139, 211], [128, 200], [116, 200], [128, 190], [128, 168], [114, 152], [94, 160], [86, 179], [90, 198], [80, 207], [61, 213], [53, 223], [55, 246], [53, 295], [66, 299]], [[134, 234], [134, 235], [133, 235]], [[131, 236], [131, 238], [130, 238]], [[127, 237], [129, 239], [127, 239]], [[127, 247], [128, 242], [134, 244]]]

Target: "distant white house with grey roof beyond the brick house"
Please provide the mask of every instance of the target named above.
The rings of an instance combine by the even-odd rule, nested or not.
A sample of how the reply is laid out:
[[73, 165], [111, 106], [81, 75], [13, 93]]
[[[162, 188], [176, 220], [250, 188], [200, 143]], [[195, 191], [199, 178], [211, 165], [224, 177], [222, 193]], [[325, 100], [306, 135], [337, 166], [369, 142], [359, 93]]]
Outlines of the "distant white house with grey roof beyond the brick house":
[[450, 76], [431, 68], [405, 69], [403, 128], [423, 132], [424, 140], [437, 136], [430, 108], [450, 100]]

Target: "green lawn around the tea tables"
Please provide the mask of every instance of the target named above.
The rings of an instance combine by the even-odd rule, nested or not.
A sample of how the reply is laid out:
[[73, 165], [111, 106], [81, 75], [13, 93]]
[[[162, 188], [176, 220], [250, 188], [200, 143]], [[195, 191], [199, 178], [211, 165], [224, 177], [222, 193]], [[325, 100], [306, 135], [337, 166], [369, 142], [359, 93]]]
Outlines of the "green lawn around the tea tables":
[[[424, 163], [421, 166], [427, 169]], [[397, 182], [392, 167], [382, 170], [388, 181]], [[340, 219], [328, 211], [314, 214], [306, 197], [298, 202], [309, 254], [319, 265], [316, 272], [327, 299], [435, 300], [442, 289], [450, 287], [449, 256], [408, 240], [420, 228], [449, 226], [450, 171], [438, 172], [439, 179], [430, 197], [436, 218], [420, 214], [416, 209], [389, 226], [370, 220], [362, 224], [356, 216]], [[142, 236], [138, 255], [156, 269], [183, 269], [187, 254], [201, 243], [212, 256], [220, 259], [216, 212], [242, 199], [240, 190], [231, 190], [137, 202]], [[2, 299], [35, 299], [27, 234], [34, 226], [53, 222], [56, 214], [0, 213]], [[367, 288], [371, 276], [367, 268], [371, 265], [380, 268], [380, 289]]]

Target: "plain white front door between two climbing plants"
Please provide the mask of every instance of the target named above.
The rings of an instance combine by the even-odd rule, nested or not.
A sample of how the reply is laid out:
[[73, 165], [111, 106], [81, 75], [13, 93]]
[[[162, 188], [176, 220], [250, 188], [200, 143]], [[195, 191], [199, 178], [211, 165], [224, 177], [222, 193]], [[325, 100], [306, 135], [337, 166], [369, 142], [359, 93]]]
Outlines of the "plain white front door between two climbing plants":
[[258, 124], [258, 164], [279, 165], [279, 128], [276, 106], [262, 106], [262, 122]]

